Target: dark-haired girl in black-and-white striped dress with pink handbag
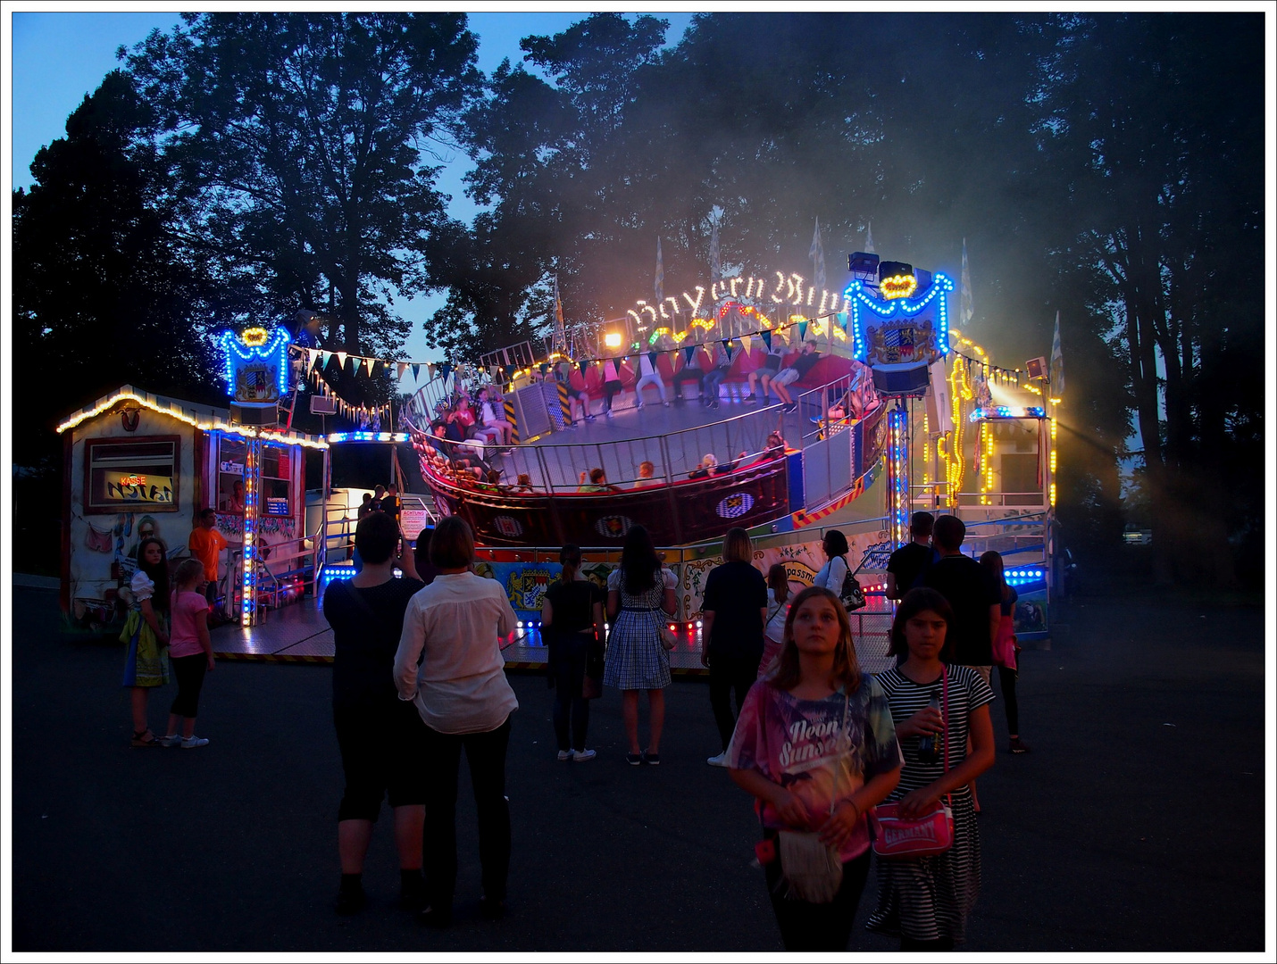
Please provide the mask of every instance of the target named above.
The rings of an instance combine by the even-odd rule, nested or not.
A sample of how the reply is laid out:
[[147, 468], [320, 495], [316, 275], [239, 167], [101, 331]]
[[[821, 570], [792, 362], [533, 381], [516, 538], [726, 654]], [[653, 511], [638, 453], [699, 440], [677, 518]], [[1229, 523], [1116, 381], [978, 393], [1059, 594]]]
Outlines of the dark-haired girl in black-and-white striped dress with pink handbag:
[[[877, 678], [904, 753], [891, 794], [899, 816], [921, 818], [942, 802], [953, 813], [953, 844], [944, 853], [879, 859], [879, 903], [867, 927], [899, 937], [900, 950], [951, 950], [965, 936], [979, 892], [979, 827], [969, 784], [994, 765], [994, 693], [971, 667], [940, 661], [951, 621], [953, 609], [937, 591], [909, 590], [891, 624], [890, 652], [905, 659]], [[927, 755], [923, 746], [919, 753], [928, 738], [940, 747]]]

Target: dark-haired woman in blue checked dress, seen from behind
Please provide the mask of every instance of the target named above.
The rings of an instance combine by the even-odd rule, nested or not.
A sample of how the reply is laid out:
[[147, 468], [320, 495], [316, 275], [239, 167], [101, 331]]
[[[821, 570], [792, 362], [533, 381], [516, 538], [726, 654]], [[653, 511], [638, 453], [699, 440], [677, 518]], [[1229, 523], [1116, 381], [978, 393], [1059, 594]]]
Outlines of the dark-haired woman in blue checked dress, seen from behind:
[[[660, 557], [644, 526], [631, 526], [621, 549], [621, 564], [608, 576], [608, 659], [603, 683], [621, 691], [621, 715], [626, 725], [631, 766], [660, 764], [660, 733], [665, 725], [665, 687], [669, 686], [669, 650], [673, 640], [664, 632], [665, 619], [678, 601], [674, 573]], [[647, 691], [650, 738], [638, 748], [638, 692]]]

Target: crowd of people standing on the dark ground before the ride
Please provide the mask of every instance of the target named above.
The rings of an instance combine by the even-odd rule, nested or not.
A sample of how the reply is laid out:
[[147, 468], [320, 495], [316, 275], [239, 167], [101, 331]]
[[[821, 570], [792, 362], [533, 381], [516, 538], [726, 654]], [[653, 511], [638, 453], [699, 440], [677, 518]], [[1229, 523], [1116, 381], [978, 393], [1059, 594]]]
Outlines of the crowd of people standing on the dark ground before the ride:
[[[388, 798], [402, 905], [428, 926], [451, 922], [465, 752], [479, 824], [480, 908], [498, 918], [511, 855], [506, 753], [518, 707], [501, 646], [517, 619], [502, 585], [475, 573], [474, 538], [462, 518], [424, 530], [412, 552], [396, 506], [395, 486], [368, 494], [355, 534], [361, 566], [323, 598], [345, 774], [335, 909], [351, 914], [365, 904], [364, 861]], [[965, 530], [955, 516], [916, 513], [911, 534], [888, 564], [886, 594], [898, 603], [890, 629], [896, 664], [877, 675], [859, 668], [839, 591], [850, 572], [843, 532], [826, 531], [825, 564], [813, 585], [794, 592], [783, 564], [766, 575], [756, 568], [748, 532], [733, 527], [723, 563], [705, 584], [701, 661], [719, 734], [707, 762], [727, 769], [756, 801], [756, 853], [788, 950], [845, 949], [879, 804], [895, 804], [905, 820], [946, 820], [951, 839], [927, 855], [877, 857], [879, 894], [867, 927], [898, 938], [902, 950], [960, 942], [979, 890], [976, 779], [995, 760], [994, 665], [1008, 748], [1028, 751], [1014, 686], [1015, 592], [1001, 557], [990, 552], [977, 562], [963, 554]], [[627, 531], [605, 586], [584, 575], [578, 546], [564, 545], [559, 562], [561, 577], [540, 613], [557, 760], [596, 758], [590, 700], [607, 687], [621, 693], [623, 762], [659, 766], [677, 578], [641, 525]], [[207, 575], [193, 557], [170, 586], [163, 544], [148, 539], [139, 546], [134, 608], [121, 635], [133, 746], [208, 743], [194, 734], [200, 687], [215, 667]], [[166, 734], [157, 737], [147, 725], [147, 697], [169, 682], [170, 665], [178, 697]]]

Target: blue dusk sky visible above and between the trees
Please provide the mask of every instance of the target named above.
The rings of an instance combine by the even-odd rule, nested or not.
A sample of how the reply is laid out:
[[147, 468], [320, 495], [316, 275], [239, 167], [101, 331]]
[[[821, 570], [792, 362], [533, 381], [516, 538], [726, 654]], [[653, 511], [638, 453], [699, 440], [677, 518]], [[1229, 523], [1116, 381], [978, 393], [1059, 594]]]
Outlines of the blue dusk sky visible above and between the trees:
[[[669, 20], [667, 38], [677, 43], [691, 23], [690, 13], [654, 13]], [[41, 147], [65, 137], [66, 116], [92, 93], [102, 78], [119, 66], [115, 51], [132, 47], [152, 29], [167, 31], [180, 20], [178, 13], [13, 13], [11, 146], [10, 171], [14, 188], [31, 186], [29, 166]], [[479, 34], [479, 68], [492, 73], [504, 57], [522, 59], [518, 41], [530, 34], [559, 33], [589, 13], [472, 13], [470, 29]], [[460, 156], [444, 171], [441, 186], [452, 195], [450, 211], [469, 221], [475, 207], [462, 194], [461, 175], [469, 161]], [[443, 297], [416, 299], [405, 314], [414, 322], [406, 352], [414, 360], [435, 361], [420, 333], [419, 320], [442, 304]]]

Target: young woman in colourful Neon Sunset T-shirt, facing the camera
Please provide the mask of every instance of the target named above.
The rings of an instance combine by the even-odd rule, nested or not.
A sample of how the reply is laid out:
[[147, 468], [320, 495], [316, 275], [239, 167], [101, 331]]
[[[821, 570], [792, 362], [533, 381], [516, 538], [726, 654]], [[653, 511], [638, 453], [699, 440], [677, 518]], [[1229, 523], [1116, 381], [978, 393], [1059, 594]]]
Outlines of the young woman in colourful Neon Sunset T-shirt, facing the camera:
[[785, 950], [847, 950], [870, 871], [865, 815], [900, 779], [900, 748], [829, 590], [794, 598], [776, 668], [750, 689], [727, 757], [757, 798], [756, 850]]

